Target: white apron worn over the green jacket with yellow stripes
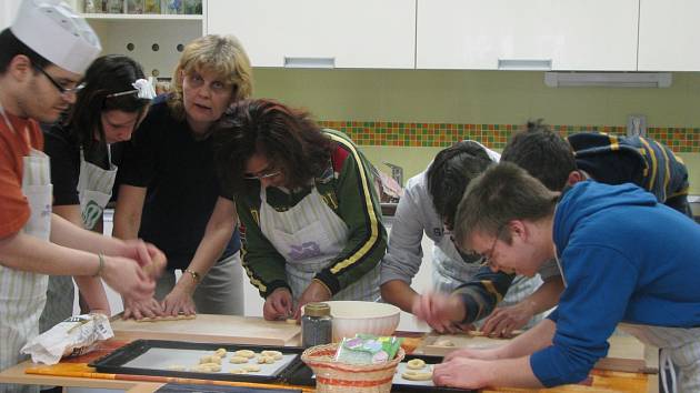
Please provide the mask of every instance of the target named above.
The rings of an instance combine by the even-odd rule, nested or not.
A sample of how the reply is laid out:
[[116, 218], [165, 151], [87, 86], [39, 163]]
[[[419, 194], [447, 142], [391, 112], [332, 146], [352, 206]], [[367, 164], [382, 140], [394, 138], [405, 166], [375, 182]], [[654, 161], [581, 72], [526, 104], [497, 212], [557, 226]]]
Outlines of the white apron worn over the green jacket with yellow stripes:
[[[267, 191], [260, 191], [260, 231], [284, 260], [287, 282], [294, 302], [311, 280], [338, 256], [348, 242], [348, 225], [329, 208], [316, 187], [297, 205], [278, 212], [267, 202]], [[379, 270], [338, 292], [333, 300], [378, 301]]]

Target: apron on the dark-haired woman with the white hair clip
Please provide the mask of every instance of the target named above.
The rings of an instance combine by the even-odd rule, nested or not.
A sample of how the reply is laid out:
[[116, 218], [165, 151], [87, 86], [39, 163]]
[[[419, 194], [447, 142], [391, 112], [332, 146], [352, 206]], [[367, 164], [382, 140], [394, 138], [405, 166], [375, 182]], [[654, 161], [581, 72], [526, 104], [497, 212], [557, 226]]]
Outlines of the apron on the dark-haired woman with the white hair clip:
[[[111, 150], [107, 145], [107, 159], [110, 168], [104, 170], [86, 161], [80, 149], [80, 175], [78, 178], [78, 198], [80, 200], [80, 213], [82, 225], [92, 230], [102, 218], [104, 206], [112, 198], [112, 187], [117, 179], [117, 165], [112, 164]], [[76, 290], [73, 278], [70, 275], [49, 276], [47, 291], [47, 305], [39, 320], [39, 332], [46, 332], [57, 323], [62, 322], [73, 314], [73, 301]]]

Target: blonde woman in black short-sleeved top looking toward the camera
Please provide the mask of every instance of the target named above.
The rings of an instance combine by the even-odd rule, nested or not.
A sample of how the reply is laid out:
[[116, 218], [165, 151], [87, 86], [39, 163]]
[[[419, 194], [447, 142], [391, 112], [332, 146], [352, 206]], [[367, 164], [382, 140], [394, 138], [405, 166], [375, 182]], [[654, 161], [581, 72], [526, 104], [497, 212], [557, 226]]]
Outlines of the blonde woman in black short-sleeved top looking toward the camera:
[[231, 103], [251, 94], [251, 72], [236, 38], [196, 39], [174, 69], [173, 92], [153, 101], [134, 133], [120, 171], [114, 235], [157, 244], [168, 268], [154, 299], [124, 299], [124, 318], [243, 313], [238, 215], [217, 179], [211, 131]]

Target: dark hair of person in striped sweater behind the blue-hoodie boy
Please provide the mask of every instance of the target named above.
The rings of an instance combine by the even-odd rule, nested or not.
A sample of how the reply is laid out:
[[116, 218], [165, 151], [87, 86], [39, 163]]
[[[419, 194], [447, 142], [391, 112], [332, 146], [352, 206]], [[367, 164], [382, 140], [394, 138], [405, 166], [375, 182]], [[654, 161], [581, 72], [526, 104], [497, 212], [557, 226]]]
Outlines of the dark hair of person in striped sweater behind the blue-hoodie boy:
[[561, 191], [569, 174], [577, 170], [569, 142], [542, 123], [529, 121], [524, 131], [512, 135], [501, 161], [518, 164], [551, 191]]

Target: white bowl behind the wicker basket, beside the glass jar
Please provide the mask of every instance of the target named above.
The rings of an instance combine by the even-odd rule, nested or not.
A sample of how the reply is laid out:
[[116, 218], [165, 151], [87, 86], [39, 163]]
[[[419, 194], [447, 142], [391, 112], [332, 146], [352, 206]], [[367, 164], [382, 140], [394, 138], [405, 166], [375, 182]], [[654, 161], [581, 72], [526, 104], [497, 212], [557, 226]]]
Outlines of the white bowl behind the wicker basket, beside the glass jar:
[[331, 316], [333, 316], [333, 342], [342, 337], [352, 337], [357, 333], [374, 335], [392, 335], [399, 325], [401, 310], [392, 304], [330, 301]]

